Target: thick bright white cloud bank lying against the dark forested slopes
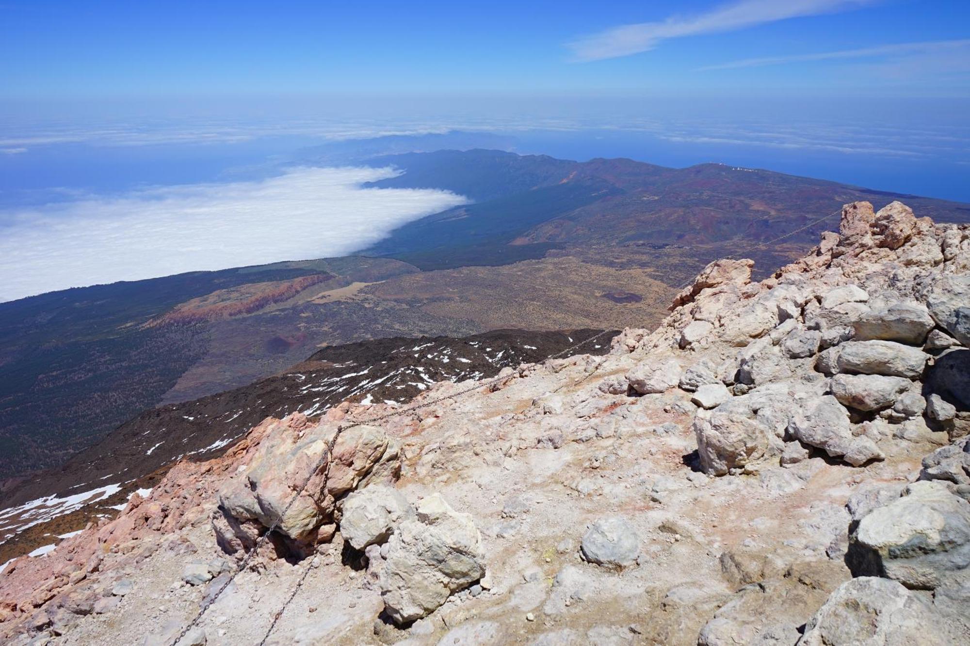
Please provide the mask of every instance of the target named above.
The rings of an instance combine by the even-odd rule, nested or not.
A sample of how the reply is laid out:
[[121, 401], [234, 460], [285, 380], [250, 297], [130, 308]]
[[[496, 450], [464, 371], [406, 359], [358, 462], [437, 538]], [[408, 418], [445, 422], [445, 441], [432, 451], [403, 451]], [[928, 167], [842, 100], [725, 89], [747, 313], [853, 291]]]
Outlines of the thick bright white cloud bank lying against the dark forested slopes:
[[467, 200], [363, 188], [391, 169], [297, 168], [18, 210], [0, 228], [0, 301], [116, 280], [339, 256]]

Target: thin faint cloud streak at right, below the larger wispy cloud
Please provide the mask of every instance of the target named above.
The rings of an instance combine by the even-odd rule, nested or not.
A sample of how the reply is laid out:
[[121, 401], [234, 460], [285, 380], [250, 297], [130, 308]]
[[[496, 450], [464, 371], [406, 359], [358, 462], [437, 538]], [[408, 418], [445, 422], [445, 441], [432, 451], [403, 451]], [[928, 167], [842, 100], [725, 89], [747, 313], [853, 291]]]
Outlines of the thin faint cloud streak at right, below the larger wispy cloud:
[[[930, 41], [925, 43], [897, 43], [895, 45], [881, 45], [872, 48], [840, 49], [837, 51], [819, 51], [806, 54], [792, 54], [789, 56], [764, 56], [762, 58], [744, 58], [741, 60], [707, 65], [699, 70], [733, 70], [743, 67], [763, 67], [766, 65], [784, 65], [787, 63], [813, 62], [820, 60], [839, 60], [853, 58], [882, 58], [893, 61], [895, 65], [908, 63], [916, 55], [946, 55], [946, 61], [962, 63], [963, 67], [970, 67], [967, 54], [970, 53], [970, 39], [955, 41]], [[924, 69], [920, 66], [920, 69]]]

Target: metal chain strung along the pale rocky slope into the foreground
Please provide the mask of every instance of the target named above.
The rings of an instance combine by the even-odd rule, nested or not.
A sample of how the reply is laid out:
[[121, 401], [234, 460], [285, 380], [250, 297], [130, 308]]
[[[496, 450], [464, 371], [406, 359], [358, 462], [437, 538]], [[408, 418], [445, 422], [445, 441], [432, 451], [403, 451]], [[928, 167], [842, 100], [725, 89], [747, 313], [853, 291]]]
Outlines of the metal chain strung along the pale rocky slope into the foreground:
[[[768, 244], [773, 244], [774, 242], [778, 242], [778, 241], [781, 241], [781, 240], [785, 240], [786, 238], [792, 237], [796, 233], [800, 233], [802, 231], [805, 231], [806, 229], [809, 229], [809, 228], [815, 226], [816, 224], [818, 224], [818, 223], [820, 223], [820, 222], [828, 219], [829, 217], [832, 217], [833, 215], [838, 215], [838, 214], [841, 214], [841, 210], [837, 210], [837, 211], [828, 213], [828, 214], [826, 214], [826, 215], [824, 215], [822, 217], [819, 217], [819, 218], [817, 218], [815, 220], [812, 220], [808, 224], [806, 224], [806, 225], [804, 225], [802, 227], [799, 227], [797, 229], [794, 229], [793, 231], [790, 231], [789, 233], [787, 233], [787, 234], [785, 234], [783, 236], [779, 236], [778, 238], [774, 238], [774, 239], [769, 240], [769, 241], [766, 241], [766, 242], [760, 242], [758, 244], [752, 244], [750, 246], [747, 246], [747, 247], [741, 249], [740, 251], [737, 251], [735, 254], [732, 254], [732, 255], [741, 255], [741, 254], [747, 253], [749, 251], [753, 251], [755, 249], [759, 249], [759, 248], [761, 248], [763, 246], [766, 246]], [[685, 285], [684, 288], [690, 286], [691, 284], [693, 284], [693, 282], [694, 282], [694, 279], [692, 278], [692, 280], [687, 285]], [[586, 345], [587, 343], [589, 343], [589, 342], [591, 342], [591, 341], [593, 341], [595, 339], [598, 339], [598, 338], [602, 337], [603, 335], [608, 334], [609, 332], [610, 332], [609, 330], [602, 330], [598, 334], [590, 337], [589, 339], [584, 339], [582, 341], [579, 341], [578, 343], [573, 343], [572, 345], [566, 347], [566, 349], [561, 350], [560, 352], [557, 352], [556, 354], [547, 357], [546, 360], [549, 360], [549, 359], [558, 359], [558, 358], [562, 357], [563, 355], [565, 355], [567, 352], [570, 352], [570, 351], [575, 350], [575, 349], [577, 349], [579, 347], [582, 347], [583, 345]], [[598, 370], [599, 370], [599, 366], [596, 366], [596, 368], [594, 369], [594, 371], [592, 371], [589, 374], [587, 374], [582, 380], [580, 380], [579, 383], [583, 383], [584, 381], [586, 381], [590, 376], [593, 375], [594, 372], [596, 372]], [[334, 436], [331, 438], [331, 440], [327, 444], [327, 450], [324, 451], [324, 453], [320, 456], [320, 459], [317, 460], [317, 462], [313, 466], [313, 468], [310, 469], [309, 473], [307, 474], [307, 478], [304, 480], [303, 484], [297, 490], [296, 494], [293, 495], [293, 498], [291, 498], [290, 501], [283, 508], [283, 512], [273, 522], [273, 525], [270, 526], [270, 528], [266, 531], [266, 533], [263, 533], [256, 540], [255, 545], [253, 546], [253, 548], [251, 550], [249, 550], [248, 554], [246, 554], [246, 556], [242, 559], [242, 562], [237, 567], [236, 571], [233, 572], [232, 576], [230, 576], [222, 584], [222, 586], [217, 591], [215, 591], [215, 594], [213, 594], [209, 599], [207, 599], [207, 601], [199, 609], [199, 612], [198, 612], [198, 614], [196, 614], [195, 618], [193, 618], [192, 621], [189, 622], [188, 625], [181, 632], [178, 633], [178, 637], [176, 637], [176, 639], [172, 642], [172, 646], [176, 646], [178, 644], [178, 642], [188, 633], [188, 631], [189, 630], [192, 630], [192, 628], [194, 628], [199, 623], [199, 621], [202, 619], [202, 616], [209, 609], [210, 605], [212, 605], [212, 603], [214, 603], [216, 601], [216, 599], [219, 598], [219, 596], [226, 590], [226, 588], [229, 587], [229, 584], [231, 584], [233, 582], [233, 580], [236, 578], [236, 576], [239, 575], [239, 573], [242, 572], [243, 569], [245, 569], [246, 565], [249, 564], [249, 561], [253, 558], [253, 556], [255, 556], [255, 554], [259, 550], [259, 548], [262, 547], [266, 543], [267, 540], [269, 540], [270, 534], [273, 533], [275, 531], [275, 529], [279, 526], [279, 524], [282, 522], [283, 518], [286, 516], [287, 512], [290, 510], [290, 507], [292, 507], [293, 504], [297, 501], [297, 499], [299, 499], [300, 496], [304, 493], [304, 490], [307, 488], [307, 485], [309, 484], [309, 481], [312, 479], [313, 474], [316, 473], [316, 471], [319, 470], [319, 468], [321, 468], [323, 466], [324, 461], [325, 460], [328, 460], [328, 458], [333, 454], [334, 445], [337, 443], [337, 438], [340, 436], [341, 433], [343, 433], [344, 431], [347, 431], [349, 429], [353, 429], [355, 427], [358, 427], [358, 426], [363, 426], [365, 424], [372, 424], [373, 422], [380, 422], [380, 421], [383, 421], [383, 420], [386, 420], [386, 419], [390, 419], [392, 417], [399, 417], [401, 415], [405, 415], [407, 413], [413, 412], [415, 410], [419, 410], [421, 408], [426, 408], [428, 406], [432, 406], [432, 405], [435, 405], [435, 404], [440, 404], [441, 402], [445, 402], [447, 400], [454, 399], [454, 398], [459, 397], [461, 395], [466, 395], [466, 394], [468, 394], [468, 393], [470, 393], [472, 391], [476, 391], [476, 390], [480, 390], [481, 388], [489, 387], [489, 386], [491, 386], [493, 384], [499, 383], [500, 381], [502, 381], [502, 380], [504, 380], [506, 378], [508, 378], [508, 377], [507, 376], [499, 376], [499, 375], [496, 375], [494, 377], [491, 377], [489, 379], [485, 379], [483, 381], [477, 381], [477, 382], [475, 382], [475, 384], [473, 386], [470, 386], [469, 388], [465, 388], [465, 389], [462, 389], [462, 390], [457, 391], [455, 393], [451, 393], [450, 395], [445, 395], [445, 396], [442, 396], [442, 397], [438, 397], [438, 398], [436, 398], [434, 400], [429, 400], [429, 401], [424, 402], [422, 404], [414, 404], [414, 405], [411, 405], [411, 406], [407, 406], [405, 408], [401, 408], [401, 409], [398, 409], [398, 410], [391, 411], [389, 413], [385, 413], [383, 415], [376, 415], [376, 416], [369, 417], [369, 418], [366, 418], [366, 419], [354, 420], [354, 421], [351, 421], [347, 425], [339, 425], [338, 428], [337, 428], [337, 432], [334, 434]], [[326, 474], [327, 476], [329, 476], [329, 474], [330, 474], [330, 465], [331, 464], [332, 464], [332, 462], [328, 462], [328, 464], [327, 464], [327, 474]], [[325, 481], [326, 481], [326, 478], [325, 478]], [[283, 602], [283, 604], [275, 612], [275, 615], [273, 617], [273, 622], [270, 624], [269, 629], [266, 631], [266, 633], [263, 635], [263, 638], [260, 640], [259, 646], [265, 646], [266, 640], [270, 638], [270, 634], [273, 632], [273, 630], [276, 627], [276, 623], [283, 616], [283, 612], [286, 610], [286, 608], [289, 606], [289, 604], [293, 601], [293, 599], [296, 598], [296, 595], [299, 592], [300, 588], [303, 586], [304, 581], [306, 581], [307, 575], [309, 574], [310, 570], [312, 570], [312, 569], [314, 569], [316, 567], [315, 564], [316, 564], [316, 557], [314, 557], [312, 560], [310, 560], [310, 565], [307, 565], [307, 569], [304, 571], [303, 575], [301, 575], [299, 581], [297, 581], [297, 584], [296, 584], [296, 586], [294, 586], [293, 590], [290, 592], [289, 597], [286, 598], [286, 600]]]

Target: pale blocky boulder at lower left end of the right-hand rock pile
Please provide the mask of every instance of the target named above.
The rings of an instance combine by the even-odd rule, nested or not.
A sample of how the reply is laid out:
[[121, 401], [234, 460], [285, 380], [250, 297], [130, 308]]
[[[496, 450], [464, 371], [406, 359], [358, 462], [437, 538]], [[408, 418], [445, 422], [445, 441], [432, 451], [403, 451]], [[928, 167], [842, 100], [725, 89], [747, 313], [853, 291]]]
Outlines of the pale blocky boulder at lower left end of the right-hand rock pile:
[[750, 410], [722, 404], [709, 417], [694, 418], [700, 468], [709, 475], [725, 475], [757, 461], [768, 446], [767, 430]]

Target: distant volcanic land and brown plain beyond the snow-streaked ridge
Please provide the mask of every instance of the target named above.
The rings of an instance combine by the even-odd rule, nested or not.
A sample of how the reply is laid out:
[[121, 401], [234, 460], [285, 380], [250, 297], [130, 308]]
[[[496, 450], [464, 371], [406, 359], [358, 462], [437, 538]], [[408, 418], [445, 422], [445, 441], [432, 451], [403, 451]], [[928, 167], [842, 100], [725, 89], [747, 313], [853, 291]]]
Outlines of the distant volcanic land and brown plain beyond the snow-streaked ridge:
[[[364, 151], [414, 145], [404, 138]], [[651, 325], [674, 287], [708, 261], [846, 202], [879, 208], [904, 197], [715, 164], [669, 169], [484, 149], [368, 163], [403, 171], [373, 186], [445, 188], [474, 202], [404, 225], [365, 251], [373, 258], [198, 272], [0, 304], [0, 478], [60, 465], [146, 408], [243, 386], [328, 344]], [[938, 221], [970, 220], [966, 205], [905, 200]], [[759, 272], [771, 271], [836, 222], [746, 254]]]

